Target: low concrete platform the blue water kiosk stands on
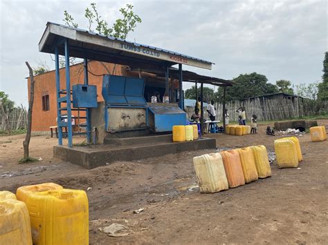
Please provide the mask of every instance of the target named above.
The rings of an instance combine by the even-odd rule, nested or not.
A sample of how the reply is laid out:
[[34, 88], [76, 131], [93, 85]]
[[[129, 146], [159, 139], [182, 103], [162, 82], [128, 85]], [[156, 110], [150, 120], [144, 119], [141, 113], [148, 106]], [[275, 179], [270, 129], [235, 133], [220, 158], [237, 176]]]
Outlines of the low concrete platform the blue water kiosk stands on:
[[106, 144], [91, 146], [55, 146], [53, 155], [84, 168], [96, 168], [114, 161], [134, 161], [181, 153], [187, 150], [215, 149], [215, 139], [172, 142], [172, 135], [107, 139]]

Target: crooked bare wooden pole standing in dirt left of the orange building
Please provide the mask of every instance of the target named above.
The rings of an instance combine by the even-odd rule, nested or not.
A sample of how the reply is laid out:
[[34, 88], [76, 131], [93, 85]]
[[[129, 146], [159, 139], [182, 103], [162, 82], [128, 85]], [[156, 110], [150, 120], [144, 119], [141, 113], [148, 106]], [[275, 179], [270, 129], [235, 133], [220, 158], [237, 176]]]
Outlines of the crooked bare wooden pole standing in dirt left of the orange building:
[[33, 69], [30, 67], [28, 61], [25, 62], [30, 72], [30, 99], [28, 101], [28, 126], [25, 140], [23, 141], [24, 158], [29, 157], [28, 146], [30, 145], [30, 131], [32, 129], [32, 110], [34, 101], [34, 76]]

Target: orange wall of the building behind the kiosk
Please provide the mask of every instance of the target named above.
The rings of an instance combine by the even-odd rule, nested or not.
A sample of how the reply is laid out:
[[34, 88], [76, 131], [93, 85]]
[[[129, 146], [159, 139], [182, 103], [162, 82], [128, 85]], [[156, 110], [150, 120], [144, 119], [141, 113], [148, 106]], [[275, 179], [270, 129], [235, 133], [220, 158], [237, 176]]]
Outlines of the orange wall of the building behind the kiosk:
[[[110, 72], [113, 71], [112, 63], [104, 63]], [[102, 90], [102, 75], [108, 74], [104, 66], [98, 61], [89, 61], [89, 70], [100, 76], [92, 75], [89, 72], [89, 84], [97, 86], [97, 99], [98, 101], [103, 101], [101, 95]], [[83, 64], [79, 63], [77, 65], [71, 66], [71, 86], [74, 84], [84, 83], [84, 69]], [[125, 66], [116, 65], [115, 72], [113, 75], [126, 75]], [[65, 82], [65, 68], [60, 69], [60, 89], [66, 88]], [[30, 79], [28, 79], [28, 97], [30, 96]], [[49, 95], [50, 110], [42, 110], [42, 95]], [[78, 117], [78, 112], [73, 111], [72, 115]], [[82, 117], [82, 113], [80, 113]], [[35, 88], [34, 88], [34, 103], [33, 103], [33, 113], [32, 113], [32, 131], [50, 131], [50, 126], [56, 126], [57, 118], [57, 97], [56, 97], [56, 79], [55, 70], [46, 72], [42, 75], [35, 76]], [[81, 121], [84, 121], [81, 119]], [[77, 121], [75, 121], [77, 122]], [[76, 128], [75, 128], [76, 130]]]

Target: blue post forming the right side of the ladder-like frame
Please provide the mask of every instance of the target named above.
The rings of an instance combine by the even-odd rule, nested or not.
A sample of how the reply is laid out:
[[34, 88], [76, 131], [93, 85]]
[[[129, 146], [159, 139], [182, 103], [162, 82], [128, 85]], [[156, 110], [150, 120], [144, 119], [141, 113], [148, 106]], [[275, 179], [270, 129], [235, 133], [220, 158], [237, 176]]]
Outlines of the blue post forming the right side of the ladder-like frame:
[[66, 73], [66, 106], [67, 106], [67, 135], [69, 147], [73, 147], [72, 111], [71, 111], [71, 76], [69, 70], [69, 39], [65, 39], [65, 73]]

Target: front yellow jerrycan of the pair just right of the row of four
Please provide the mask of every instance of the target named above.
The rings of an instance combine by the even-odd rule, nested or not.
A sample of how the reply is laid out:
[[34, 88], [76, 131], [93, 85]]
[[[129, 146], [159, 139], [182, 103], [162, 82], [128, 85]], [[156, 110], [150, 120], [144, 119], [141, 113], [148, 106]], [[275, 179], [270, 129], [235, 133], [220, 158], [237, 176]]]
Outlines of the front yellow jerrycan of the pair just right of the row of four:
[[275, 140], [275, 157], [279, 168], [298, 167], [298, 152], [291, 139]]

